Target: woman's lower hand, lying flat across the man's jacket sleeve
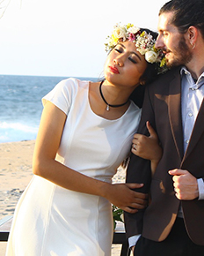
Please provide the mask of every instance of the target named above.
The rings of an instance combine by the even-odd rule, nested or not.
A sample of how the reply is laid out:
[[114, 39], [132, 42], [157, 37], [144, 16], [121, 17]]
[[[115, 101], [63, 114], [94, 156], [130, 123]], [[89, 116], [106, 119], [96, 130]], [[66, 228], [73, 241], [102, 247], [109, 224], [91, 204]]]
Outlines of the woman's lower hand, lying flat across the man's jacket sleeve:
[[104, 197], [114, 206], [130, 214], [135, 214], [139, 209], [147, 207], [148, 194], [135, 192], [143, 184], [108, 184]]

